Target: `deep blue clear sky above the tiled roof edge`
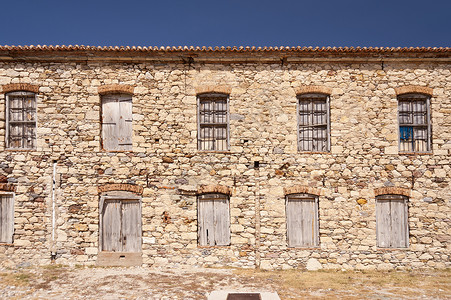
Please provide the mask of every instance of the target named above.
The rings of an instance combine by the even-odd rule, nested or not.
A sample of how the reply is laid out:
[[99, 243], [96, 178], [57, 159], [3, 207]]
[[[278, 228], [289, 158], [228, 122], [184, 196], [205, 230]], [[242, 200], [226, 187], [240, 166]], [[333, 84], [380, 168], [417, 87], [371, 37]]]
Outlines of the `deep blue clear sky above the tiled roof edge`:
[[4, 0], [0, 22], [1, 45], [451, 46], [451, 0]]

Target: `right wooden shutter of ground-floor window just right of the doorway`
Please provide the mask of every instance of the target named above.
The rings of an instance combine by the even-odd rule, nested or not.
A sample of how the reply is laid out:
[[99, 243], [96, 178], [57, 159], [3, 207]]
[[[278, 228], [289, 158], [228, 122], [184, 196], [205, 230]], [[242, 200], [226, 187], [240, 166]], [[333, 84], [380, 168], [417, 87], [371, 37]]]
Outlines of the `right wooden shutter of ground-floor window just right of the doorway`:
[[216, 245], [230, 244], [229, 201], [226, 197], [214, 201], [214, 230]]

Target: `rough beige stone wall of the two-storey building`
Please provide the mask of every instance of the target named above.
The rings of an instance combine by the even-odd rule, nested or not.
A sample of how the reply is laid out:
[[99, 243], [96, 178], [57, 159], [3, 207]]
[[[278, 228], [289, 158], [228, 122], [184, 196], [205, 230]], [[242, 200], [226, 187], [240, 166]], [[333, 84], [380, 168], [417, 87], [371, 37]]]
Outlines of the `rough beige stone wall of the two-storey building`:
[[[450, 267], [451, 65], [0, 62], [0, 85], [37, 94], [37, 148], [5, 149], [16, 186], [13, 245], [2, 264], [94, 264], [99, 187], [142, 187], [144, 265], [373, 269]], [[105, 85], [133, 86], [133, 151], [101, 148]], [[297, 151], [296, 91], [330, 90], [331, 152]], [[396, 88], [433, 90], [432, 153], [398, 153]], [[230, 91], [230, 151], [197, 150], [196, 93]], [[254, 162], [259, 167], [254, 167]], [[56, 163], [55, 241], [52, 173]], [[231, 191], [231, 245], [197, 243], [196, 193]], [[407, 249], [376, 247], [375, 189], [410, 191]], [[320, 246], [289, 248], [284, 189], [319, 193]], [[367, 203], [358, 204], [365, 199]]]

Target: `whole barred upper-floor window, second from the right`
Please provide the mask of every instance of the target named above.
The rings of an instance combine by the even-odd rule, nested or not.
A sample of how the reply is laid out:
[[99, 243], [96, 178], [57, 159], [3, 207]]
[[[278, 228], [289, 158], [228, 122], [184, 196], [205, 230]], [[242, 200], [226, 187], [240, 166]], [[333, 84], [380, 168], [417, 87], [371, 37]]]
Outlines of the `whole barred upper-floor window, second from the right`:
[[298, 100], [299, 151], [330, 151], [329, 96], [302, 94]]

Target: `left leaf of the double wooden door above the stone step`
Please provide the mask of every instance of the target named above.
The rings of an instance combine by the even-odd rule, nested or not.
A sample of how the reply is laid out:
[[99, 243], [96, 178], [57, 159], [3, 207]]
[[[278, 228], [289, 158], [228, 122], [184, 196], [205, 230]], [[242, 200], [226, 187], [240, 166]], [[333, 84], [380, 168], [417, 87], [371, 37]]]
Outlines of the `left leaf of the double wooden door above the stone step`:
[[102, 250], [122, 251], [121, 201], [107, 200], [103, 207]]

